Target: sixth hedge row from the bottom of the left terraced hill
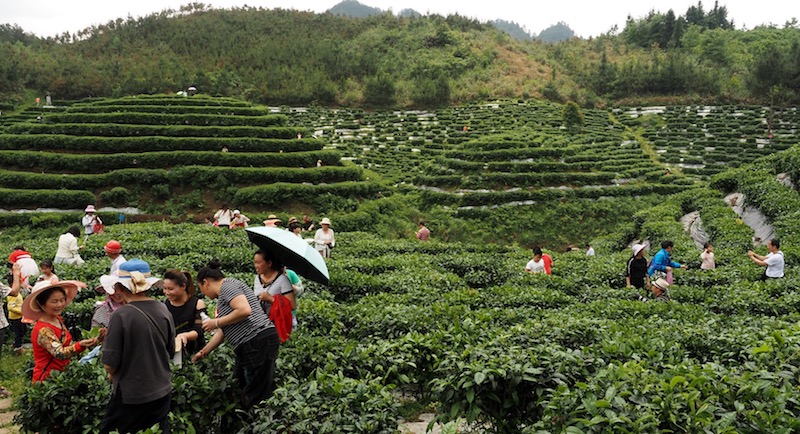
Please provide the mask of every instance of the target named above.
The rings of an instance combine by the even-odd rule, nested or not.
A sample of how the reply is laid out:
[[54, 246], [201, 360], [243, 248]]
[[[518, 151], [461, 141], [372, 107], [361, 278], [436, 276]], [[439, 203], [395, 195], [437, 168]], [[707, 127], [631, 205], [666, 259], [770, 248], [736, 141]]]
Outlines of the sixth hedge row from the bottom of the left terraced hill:
[[184, 113], [60, 113], [45, 118], [48, 123], [59, 124], [129, 124], [129, 125], [195, 125], [195, 126], [286, 126], [284, 115], [240, 116], [220, 114]]

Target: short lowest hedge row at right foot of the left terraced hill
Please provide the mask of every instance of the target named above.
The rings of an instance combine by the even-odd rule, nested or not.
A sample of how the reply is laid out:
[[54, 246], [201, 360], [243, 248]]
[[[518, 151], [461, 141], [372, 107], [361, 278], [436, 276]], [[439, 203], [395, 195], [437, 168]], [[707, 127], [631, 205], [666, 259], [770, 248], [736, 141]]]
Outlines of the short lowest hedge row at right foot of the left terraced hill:
[[237, 206], [259, 208], [280, 207], [290, 202], [306, 204], [326, 200], [325, 196], [345, 198], [374, 198], [384, 187], [375, 182], [339, 182], [336, 184], [306, 185], [275, 183], [240, 188], [233, 198]]

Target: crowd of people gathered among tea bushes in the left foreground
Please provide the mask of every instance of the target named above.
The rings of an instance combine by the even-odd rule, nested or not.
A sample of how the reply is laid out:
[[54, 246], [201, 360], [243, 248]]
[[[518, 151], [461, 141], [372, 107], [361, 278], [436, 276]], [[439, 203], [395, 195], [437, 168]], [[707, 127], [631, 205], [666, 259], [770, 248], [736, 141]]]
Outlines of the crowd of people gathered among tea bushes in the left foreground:
[[[320, 224], [321, 231], [330, 230], [328, 219]], [[72, 237], [70, 244], [75, 238], [72, 229], [76, 228], [65, 234]], [[325, 241], [333, 243], [332, 238]], [[60, 280], [56, 261], [39, 265], [22, 246], [9, 256], [11, 273], [8, 284], [0, 285], [0, 296], [6, 297], [14, 324], [15, 350], [22, 351], [28, 325], [32, 326], [33, 383], [48, 381], [52, 372], [64, 370], [73, 359], [98, 361], [111, 387], [100, 432], [137, 432], [154, 424], [169, 432], [172, 369], [184, 356], [198, 362], [227, 341], [236, 355], [243, 408], [270, 396], [278, 350], [297, 327], [297, 296], [303, 288], [300, 277], [279, 257], [270, 250], [257, 250], [254, 281], [248, 285], [225, 277], [218, 260], [200, 269], [194, 279], [178, 269], [156, 277], [147, 262], [126, 260], [118, 240], [108, 241], [103, 250], [109, 259], [108, 274], [88, 289], [105, 295], [96, 302], [91, 320], [97, 335], [79, 340], [73, 338], [62, 314], [87, 284]], [[195, 288], [215, 301], [213, 317]], [[8, 325], [5, 314], [0, 315], [0, 342]], [[8, 396], [8, 391], [0, 388], [0, 395]]]

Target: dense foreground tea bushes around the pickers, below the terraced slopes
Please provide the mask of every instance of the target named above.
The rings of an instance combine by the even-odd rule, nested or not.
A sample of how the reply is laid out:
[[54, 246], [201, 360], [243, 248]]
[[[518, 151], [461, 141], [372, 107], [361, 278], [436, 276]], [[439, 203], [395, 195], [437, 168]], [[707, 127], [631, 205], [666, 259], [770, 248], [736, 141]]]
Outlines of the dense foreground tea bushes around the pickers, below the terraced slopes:
[[[747, 169], [718, 175], [714, 185], [760, 204], [757, 192], [774, 186], [758, 183], [793, 169], [795, 154], [776, 154], [753, 166], [758, 171], [748, 167], [750, 177], [741, 176]], [[273, 397], [254, 413], [237, 412], [232, 354], [223, 347], [175, 371], [173, 428], [388, 433], [397, 429], [406, 396], [435, 402], [439, 421], [460, 419], [483, 432], [791, 432], [800, 428], [800, 299], [791, 271], [800, 239], [786, 219], [800, 200], [794, 190], [779, 194], [786, 207], [765, 212], [785, 240], [789, 274], [766, 284], [744, 255], [752, 231], [707, 187], [630, 210], [609, 201], [607, 213], [633, 215], [629, 224], [607, 226], [593, 242], [595, 257], [551, 251], [552, 276], [523, 273], [523, 248], [387, 243], [339, 229], [331, 285], [308, 284], [300, 298], [300, 328], [281, 348]], [[389, 205], [402, 199], [381, 199], [382, 214], [398, 214]], [[572, 205], [560, 211], [575, 218], [602, 202]], [[696, 269], [699, 250], [678, 222], [690, 211], [700, 212], [717, 246], [715, 271]], [[505, 218], [495, 212], [491, 217]], [[53, 254], [55, 234], [25, 234], [0, 235], [0, 246], [23, 243], [34, 257]], [[92, 286], [107, 267], [102, 245], [112, 237], [157, 275], [192, 270], [211, 257], [233, 277], [248, 281], [252, 273], [254, 247], [243, 231], [165, 223], [112, 226], [90, 237], [84, 267], [56, 271]], [[643, 303], [643, 293], [623, 288], [628, 243], [637, 239], [673, 240], [675, 259], [690, 266], [676, 273], [673, 302]], [[95, 297], [82, 292], [66, 319], [86, 328]], [[91, 431], [107, 392], [101, 367], [73, 364], [25, 390], [17, 422], [40, 432]], [[71, 417], [76, 413], [94, 416]]]

